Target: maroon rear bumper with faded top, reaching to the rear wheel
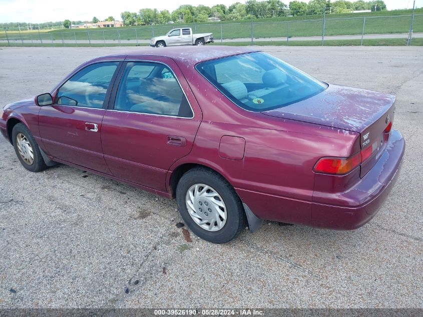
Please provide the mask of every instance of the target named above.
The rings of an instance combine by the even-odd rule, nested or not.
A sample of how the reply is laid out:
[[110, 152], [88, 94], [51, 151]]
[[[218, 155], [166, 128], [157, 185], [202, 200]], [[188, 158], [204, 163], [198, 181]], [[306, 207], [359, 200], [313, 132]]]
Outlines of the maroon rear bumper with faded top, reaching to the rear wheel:
[[305, 201], [240, 188], [236, 191], [258, 218], [352, 230], [367, 223], [386, 200], [398, 177], [404, 150], [404, 139], [398, 131], [392, 130], [386, 149], [373, 168], [344, 192], [319, 193], [320, 202], [315, 197]]

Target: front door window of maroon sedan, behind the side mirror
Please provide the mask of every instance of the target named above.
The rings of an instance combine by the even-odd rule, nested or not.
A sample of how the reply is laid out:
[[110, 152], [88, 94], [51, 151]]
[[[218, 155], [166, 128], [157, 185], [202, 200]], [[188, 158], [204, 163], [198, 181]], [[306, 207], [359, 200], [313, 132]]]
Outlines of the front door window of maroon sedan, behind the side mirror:
[[59, 89], [56, 104], [102, 108], [118, 64], [119, 62], [98, 63], [82, 69]]

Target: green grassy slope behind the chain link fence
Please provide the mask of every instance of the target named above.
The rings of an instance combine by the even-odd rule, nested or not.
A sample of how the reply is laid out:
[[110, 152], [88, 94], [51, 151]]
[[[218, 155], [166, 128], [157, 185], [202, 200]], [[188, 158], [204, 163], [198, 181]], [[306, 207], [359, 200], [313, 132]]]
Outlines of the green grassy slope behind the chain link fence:
[[[325, 35], [360, 35], [363, 30], [364, 17], [366, 17], [365, 34], [398, 34], [407, 33], [410, 26], [410, 10], [383, 11], [364, 14], [331, 14], [327, 15]], [[396, 16], [399, 17], [396, 17]], [[383, 16], [383, 17], [382, 17]], [[342, 18], [342, 19], [341, 19]], [[298, 16], [279, 17], [275, 19], [256, 19], [254, 21], [253, 36], [255, 38], [273, 37], [298, 37], [298, 36], [321, 36], [322, 17]], [[154, 35], [164, 35], [169, 30], [178, 27], [178, 24], [165, 26], [139, 26], [124, 28], [104, 28], [104, 29], [72, 29], [72, 30], [51, 30], [48, 32], [22, 31], [8, 32], [9, 39], [17, 41], [39, 40], [40, 38], [48, 43], [52, 40], [148, 40]], [[212, 23], [208, 25], [197, 24], [197, 33], [212, 32], [216, 40], [220, 39], [221, 26], [223, 39], [239, 39], [251, 37], [250, 21], [223, 21], [222, 23]], [[192, 27], [192, 26], [191, 26]], [[423, 9], [416, 10], [414, 17], [413, 32], [423, 32]], [[0, 32], [0, 39], [6, 39], [6, 33]]]

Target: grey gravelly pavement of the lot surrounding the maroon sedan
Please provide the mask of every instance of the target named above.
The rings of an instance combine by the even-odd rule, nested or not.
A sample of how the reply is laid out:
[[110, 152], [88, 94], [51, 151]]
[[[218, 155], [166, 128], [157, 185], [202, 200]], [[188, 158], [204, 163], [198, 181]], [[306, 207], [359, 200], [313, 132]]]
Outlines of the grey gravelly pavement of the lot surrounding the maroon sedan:
[[[422, 308], [423, 48], [259, 49], [323, 81], [397, 96], [407, 148], [377, 215], [354, 231], [265, 221], [214, 245], [179, 224], [175, 201], [64, 165], [30, 173], [2, 138], [0, 308]], [[126, 50], [4, 48], [0, 105]]]

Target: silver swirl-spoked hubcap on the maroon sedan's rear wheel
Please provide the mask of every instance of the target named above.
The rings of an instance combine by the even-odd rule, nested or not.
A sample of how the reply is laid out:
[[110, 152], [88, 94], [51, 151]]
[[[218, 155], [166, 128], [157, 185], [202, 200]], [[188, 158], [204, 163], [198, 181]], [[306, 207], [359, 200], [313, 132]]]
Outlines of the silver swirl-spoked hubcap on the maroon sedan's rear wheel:
[[222, 197], [210, 186], [192, 185], [185, 198], [191, 218], [207, 231], [218, 231], [226, 223], [226, 206]]

